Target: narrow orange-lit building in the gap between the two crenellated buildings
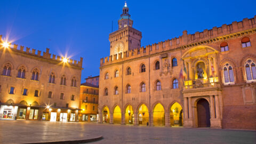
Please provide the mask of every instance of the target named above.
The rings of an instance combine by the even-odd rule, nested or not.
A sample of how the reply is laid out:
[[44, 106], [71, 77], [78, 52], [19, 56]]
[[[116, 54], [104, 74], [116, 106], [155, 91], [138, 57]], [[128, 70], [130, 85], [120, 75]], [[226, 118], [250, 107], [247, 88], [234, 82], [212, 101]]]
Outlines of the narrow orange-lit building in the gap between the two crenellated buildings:
[[81, 84], [79, 121], [98, 121], [98, 101], [99, 101], [99, 76], [88, 77], [86, 82]]

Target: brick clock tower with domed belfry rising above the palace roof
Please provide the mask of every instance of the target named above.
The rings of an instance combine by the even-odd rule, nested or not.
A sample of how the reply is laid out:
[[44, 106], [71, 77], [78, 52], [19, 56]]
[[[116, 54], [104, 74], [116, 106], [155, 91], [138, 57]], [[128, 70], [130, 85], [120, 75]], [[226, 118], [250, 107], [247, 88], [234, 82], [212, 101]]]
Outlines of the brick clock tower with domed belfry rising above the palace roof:
[[109, 34], [110, 55], [118, 55], [121, 52], [141, 47], [140, 40], [142, 38], [142, 34], [139, 30], [134, 29], [132, 25], [133, 20], [129, 14], [127, 3], [125, 2], [123, 13], [121, 14], [121, 18], [118, 20], [118, 30]]

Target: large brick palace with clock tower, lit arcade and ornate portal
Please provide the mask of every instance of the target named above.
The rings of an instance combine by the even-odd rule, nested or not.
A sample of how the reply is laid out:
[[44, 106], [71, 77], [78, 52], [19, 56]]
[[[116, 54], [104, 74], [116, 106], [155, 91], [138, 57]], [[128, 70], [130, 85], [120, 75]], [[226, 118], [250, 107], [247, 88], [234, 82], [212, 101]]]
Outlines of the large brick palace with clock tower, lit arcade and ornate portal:
[[100, 123], [256, 129], [256, 16], [146, 47], [132, 24], [125, 4], [100, 60]]

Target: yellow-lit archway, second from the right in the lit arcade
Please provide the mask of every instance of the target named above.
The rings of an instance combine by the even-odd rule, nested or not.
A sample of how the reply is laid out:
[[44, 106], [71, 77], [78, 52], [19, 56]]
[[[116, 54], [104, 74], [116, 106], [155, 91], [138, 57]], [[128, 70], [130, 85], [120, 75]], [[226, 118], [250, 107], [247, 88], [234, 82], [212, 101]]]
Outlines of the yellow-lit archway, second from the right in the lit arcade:
[[153, 110], [154, 126], [164, 126], [164, 107], [157, 103]]

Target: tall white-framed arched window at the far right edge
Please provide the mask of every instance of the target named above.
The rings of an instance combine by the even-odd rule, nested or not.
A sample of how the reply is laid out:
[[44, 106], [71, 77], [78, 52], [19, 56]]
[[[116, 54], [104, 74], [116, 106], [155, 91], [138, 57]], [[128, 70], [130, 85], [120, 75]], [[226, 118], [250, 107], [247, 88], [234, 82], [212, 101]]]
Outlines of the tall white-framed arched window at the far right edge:
[[256, 67], [255, 67], [255, 63], [252, 60], [246, 61], [245, 71], [246, 71], [247, 81], [255, 81], [256, 80]]

